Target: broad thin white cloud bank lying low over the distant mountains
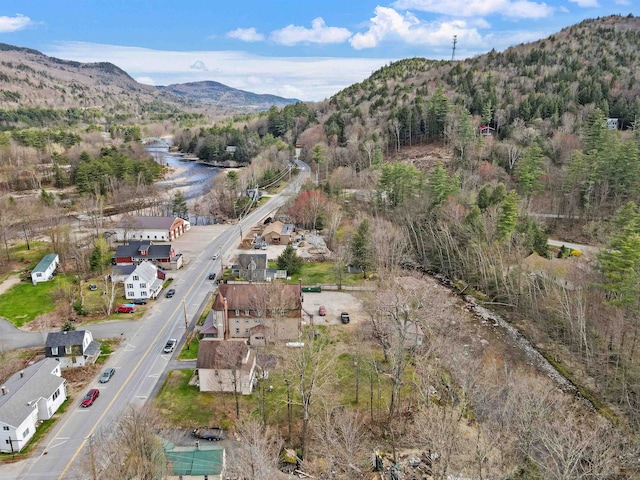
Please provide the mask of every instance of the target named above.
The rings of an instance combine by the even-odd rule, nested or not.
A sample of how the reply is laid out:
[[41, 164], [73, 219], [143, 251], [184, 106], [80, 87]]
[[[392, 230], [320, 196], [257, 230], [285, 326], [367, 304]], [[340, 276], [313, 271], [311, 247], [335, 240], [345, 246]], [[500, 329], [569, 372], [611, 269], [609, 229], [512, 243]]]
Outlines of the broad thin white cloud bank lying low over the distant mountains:
[[[240, 51], [176, 52], [95, 43], [57, 43], [46, 55], [111, 62], [151, 85], [215, 80], [240, 90], [319, 101], [369, 77], [395, 58], [261, 57]], [[211, 70], [194, 70], [201, 61]]]

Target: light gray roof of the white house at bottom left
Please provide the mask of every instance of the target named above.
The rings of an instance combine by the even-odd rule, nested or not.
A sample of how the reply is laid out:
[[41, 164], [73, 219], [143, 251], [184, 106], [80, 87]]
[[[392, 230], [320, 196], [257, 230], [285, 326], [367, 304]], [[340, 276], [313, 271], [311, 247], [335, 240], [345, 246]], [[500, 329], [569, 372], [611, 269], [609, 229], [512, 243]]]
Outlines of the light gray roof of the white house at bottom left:
[[53, 358], [45, 358], [12, 375], [3, 386], [7, 393], [0, 393], [0, 422], [18, 427], [33, 412], [33, 403], [49, 398], [65, 380], [52, 373], [60, 365]]

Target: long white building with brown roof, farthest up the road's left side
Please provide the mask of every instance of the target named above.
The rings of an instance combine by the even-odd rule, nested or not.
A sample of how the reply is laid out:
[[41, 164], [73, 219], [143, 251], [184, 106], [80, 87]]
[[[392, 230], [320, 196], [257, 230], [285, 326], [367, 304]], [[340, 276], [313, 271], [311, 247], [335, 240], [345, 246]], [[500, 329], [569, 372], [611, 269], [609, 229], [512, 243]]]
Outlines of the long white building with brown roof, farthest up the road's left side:
[[124, 215], [114, 231], [119, 242], [151, 240], [170, 242], [191, 228], [191, 224], [180, 217], [146, 217]]

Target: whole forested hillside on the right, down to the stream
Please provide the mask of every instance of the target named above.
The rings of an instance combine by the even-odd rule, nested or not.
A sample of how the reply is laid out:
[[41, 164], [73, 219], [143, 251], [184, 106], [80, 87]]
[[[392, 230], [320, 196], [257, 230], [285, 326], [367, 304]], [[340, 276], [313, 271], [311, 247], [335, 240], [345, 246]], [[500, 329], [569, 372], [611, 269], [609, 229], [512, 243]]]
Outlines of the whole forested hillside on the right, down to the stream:
[[[503, 312], [632, 436], [639, 31], [640, 19], [615, 16], [470, 60], [403, 60], [288, 133], [327, 194], [372, 192], [348, 205], [377, 225], [360, 266], [443, 274]], [[601, 250], [553, 249], [549, 236]]]

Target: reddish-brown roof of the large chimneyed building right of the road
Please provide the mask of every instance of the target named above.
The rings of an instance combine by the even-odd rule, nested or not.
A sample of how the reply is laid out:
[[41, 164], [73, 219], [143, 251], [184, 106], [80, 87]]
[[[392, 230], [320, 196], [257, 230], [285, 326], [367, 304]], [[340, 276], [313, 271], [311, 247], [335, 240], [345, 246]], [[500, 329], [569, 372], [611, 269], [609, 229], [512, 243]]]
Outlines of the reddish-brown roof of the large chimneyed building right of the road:
[[[278, 284], [282, 288], [281, 300], [287, 310], [301, 307], [301, 287], [297, 284]], [[223, 298], [227, 299], [227, 310], [256, 310], [267, 302], [265, 296], [270, 295], [272, 283], [222, 283], [218, 286], [218, 294], [213, 302], [213, 310], [224, 310]], [[271, 295], [273, 297], [273, 295]], [[275, 300], [274, 300], [275, 302]]]

